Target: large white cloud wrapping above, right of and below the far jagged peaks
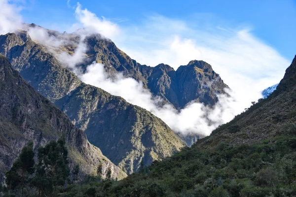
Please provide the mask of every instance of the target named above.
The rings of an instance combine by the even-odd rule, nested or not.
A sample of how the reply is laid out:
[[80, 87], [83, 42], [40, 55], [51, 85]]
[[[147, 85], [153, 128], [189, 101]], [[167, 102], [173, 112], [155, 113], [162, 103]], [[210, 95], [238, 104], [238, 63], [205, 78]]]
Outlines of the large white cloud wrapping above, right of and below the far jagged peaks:
[[153, 98], [141, 83], [131, 78], [119, 74], [111, 79], [100, 64], [88, 66], [84, 74], [77, 73], [85, 83], [146, 108], [178, 132], [209, 134], [261, 98], [260, 91], [277, 83], [289, 66], [289, 61], [256, 38], [249, 28], [194, 29], [181, 20], [153, 16], [142, 25], [121, 27], [120, 32], [120, 37], [113, 39], [140, 63], [149, 66], [165, 63], [177, 69], [190, 60], [204, 60], [232, 89], [230, 98], [219, 96], [214, 109], [189, 103], [177, 111], [170, 105], [158, 107], [158, 98]]

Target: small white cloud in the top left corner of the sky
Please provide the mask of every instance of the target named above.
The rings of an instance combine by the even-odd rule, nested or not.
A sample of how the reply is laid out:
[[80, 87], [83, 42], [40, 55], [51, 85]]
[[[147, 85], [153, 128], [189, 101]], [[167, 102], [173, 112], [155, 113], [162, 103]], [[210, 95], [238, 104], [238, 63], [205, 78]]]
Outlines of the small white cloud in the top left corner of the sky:
[[20, 10], [21, 7], [9, 3], [8, 0], [0, 0], [0, 35], [12, 33], [21, 27]]

